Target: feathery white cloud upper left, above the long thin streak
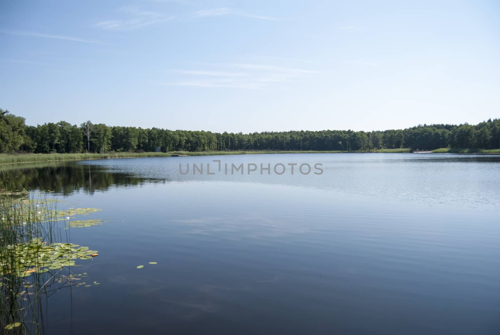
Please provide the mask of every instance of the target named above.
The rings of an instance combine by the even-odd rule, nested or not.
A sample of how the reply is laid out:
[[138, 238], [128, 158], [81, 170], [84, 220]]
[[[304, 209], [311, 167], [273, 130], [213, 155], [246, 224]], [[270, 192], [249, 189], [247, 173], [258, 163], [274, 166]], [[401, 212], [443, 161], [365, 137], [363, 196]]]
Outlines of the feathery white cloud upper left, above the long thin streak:
[[175, 19], [174, 16], [166, 16], [160, 12], [143, 11], [137, 7], [125, 6], [118, 10], [128, 16], [127, 19], [106, 20], [95, 24], [95, 27], [104, 30], [134, 30], [144, 26]]

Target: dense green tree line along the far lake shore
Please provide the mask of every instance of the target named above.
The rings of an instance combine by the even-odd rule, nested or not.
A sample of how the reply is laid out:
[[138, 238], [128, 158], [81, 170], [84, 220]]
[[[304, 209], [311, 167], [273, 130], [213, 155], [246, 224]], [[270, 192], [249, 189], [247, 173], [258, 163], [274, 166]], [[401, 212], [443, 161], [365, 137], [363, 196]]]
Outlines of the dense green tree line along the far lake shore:
[[212, 133], [160, 128], [110, 127], [86, 121], [26, 126], [24, 118], [0, 109], [0, 153], [80, 153], [205, 150], [317, 150], [500, 148], [500, 120], [477, 125], [418, 125], [385, 131], [287, 131]]

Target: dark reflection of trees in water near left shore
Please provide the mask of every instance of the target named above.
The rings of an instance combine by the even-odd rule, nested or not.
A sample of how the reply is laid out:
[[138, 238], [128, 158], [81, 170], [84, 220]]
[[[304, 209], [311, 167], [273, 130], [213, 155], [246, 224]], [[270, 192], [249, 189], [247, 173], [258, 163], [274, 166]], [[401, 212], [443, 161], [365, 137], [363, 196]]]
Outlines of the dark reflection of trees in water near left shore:
[[144, 183], [165, 183], [165, 179], [150, 179], [132, 174], [109, 171], [97, 165], [59, 163], [51, 165], [19, 166], [2, 169], [1, 179], [16, 190], [22, 188], [69, 195], [83, 190], [93, 194], [111, 186], [140, 186]]

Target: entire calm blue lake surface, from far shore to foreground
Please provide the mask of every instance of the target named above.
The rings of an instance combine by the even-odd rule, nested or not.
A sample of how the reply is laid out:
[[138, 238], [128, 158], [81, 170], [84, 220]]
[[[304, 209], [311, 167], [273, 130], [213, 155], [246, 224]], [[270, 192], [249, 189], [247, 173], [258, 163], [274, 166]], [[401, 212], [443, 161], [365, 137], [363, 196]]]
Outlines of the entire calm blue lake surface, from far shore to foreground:
[[[244, 174], [225, 175], [224, 163], [243, 163]], [[248, 163], [270, 163], [270, 175], [248, 175]], [[288, 163], [297, 163], [293, 175]], [[302, 163], [309, 174], [297, 171]], [[56, 197], [59, 210], [102, 209], [75, 220], [107, 221], [62, 229], [98, 250], [74, 271], [100, 284], [49, 298], [51, 334], [500, 333], [500, 156], [266, 154], [0, 169]]]

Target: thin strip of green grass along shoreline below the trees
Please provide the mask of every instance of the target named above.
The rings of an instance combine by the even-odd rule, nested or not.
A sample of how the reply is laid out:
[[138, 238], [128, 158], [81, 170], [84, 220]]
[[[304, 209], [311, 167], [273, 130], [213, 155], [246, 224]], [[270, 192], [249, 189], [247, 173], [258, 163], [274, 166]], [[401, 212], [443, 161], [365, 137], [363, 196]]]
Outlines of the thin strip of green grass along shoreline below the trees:
[[[137, 158], [137, 157], [170, 157], [172, 155], [185, 156], [216, 156], [216, 155], [249, 155], [249, 154], [330, 154], [330, 153], [411, 153], [408, 148], [401, 149], [377, 149], [371, 151], [172, 151], [172, 152], [120, 152], [107, 154], [0, 154], [0, 165], [16, 163], [36, 163], [36, 162], [57, 162], [89, 159], [111, 159], [111, 158]], [[441, 148], [432, 150], [433, 153], [478, 153], [478, 154], [500, 154], [500, 149], [460, 149], [460, 148]]]

